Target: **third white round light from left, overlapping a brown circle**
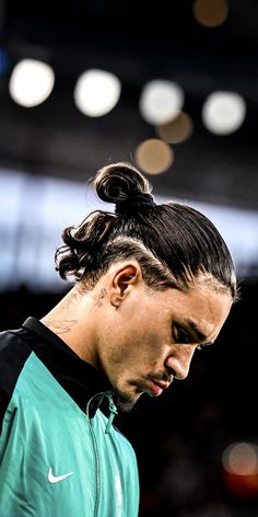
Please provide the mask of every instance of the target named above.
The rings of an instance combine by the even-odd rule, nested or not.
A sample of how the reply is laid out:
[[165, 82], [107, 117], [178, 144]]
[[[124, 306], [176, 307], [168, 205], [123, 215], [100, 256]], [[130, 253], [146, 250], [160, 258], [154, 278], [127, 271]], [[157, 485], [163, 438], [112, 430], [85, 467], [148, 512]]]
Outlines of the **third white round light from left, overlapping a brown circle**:
[[139, 101], [142, 117], [154, 126], [166, 124], [178, 115], [184, 105], [183, 89], [172, 81], [154, 80], [143, 88]]

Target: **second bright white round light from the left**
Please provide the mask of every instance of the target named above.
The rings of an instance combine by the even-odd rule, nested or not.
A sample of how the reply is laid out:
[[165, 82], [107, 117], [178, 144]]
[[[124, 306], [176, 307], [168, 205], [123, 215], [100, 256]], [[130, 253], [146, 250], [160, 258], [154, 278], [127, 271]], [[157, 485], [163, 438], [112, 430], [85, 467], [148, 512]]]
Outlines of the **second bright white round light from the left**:
[[90, 117], [99, 117], [110, 112], [121, 92], [119, 79], [104, 70], [87, 70], [78, 79], [74, 88], [77, 107]]

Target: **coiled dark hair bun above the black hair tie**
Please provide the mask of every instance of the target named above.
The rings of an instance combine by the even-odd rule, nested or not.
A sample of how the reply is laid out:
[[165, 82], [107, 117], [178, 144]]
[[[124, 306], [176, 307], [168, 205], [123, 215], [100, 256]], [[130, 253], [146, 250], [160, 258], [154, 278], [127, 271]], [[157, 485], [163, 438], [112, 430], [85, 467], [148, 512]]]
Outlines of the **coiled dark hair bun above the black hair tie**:
[[[94, 181], [98, 197], [107, 203], [127, 203], [152, 191], [149, 181], [130, 163], [118, 162], [101, 169]], [[151, 196], [152, 197], [152, 196]]]

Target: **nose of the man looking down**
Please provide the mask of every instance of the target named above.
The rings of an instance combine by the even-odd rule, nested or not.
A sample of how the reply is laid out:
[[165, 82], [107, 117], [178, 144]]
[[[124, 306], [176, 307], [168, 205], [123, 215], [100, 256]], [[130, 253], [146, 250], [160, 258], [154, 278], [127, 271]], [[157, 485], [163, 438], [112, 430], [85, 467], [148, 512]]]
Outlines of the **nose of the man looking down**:
[[176, 379], [186, 379], [189, 374], [194, 354], [194, 345], [174, 345], [171, 355], [165, 360], [165, 366], [172, 371]]

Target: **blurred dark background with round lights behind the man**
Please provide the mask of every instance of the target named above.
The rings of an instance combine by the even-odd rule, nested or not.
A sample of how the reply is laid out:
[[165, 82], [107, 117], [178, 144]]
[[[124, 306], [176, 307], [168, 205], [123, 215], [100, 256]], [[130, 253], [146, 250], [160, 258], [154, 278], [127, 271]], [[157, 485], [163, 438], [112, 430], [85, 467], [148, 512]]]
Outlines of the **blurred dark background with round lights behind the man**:
[[257, 21], [256, 0], [0, 0], [0, 330], [71, 287], [54, 253], [105, 209], [91, 179], [113, 161], [208, 215], [236, 263], [241, 301], [216, 345], [117, 418], [140, 517], [258, 515]]

